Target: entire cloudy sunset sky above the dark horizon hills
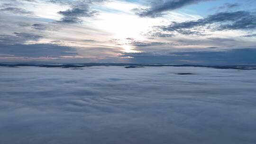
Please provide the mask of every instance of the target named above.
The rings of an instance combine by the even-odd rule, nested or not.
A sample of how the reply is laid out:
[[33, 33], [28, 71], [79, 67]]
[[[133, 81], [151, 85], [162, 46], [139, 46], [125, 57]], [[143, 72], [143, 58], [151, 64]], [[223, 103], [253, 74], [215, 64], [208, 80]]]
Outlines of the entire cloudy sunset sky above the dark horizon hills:
[[1, 0], [0, 63], [255, 64], [255, 0]]

